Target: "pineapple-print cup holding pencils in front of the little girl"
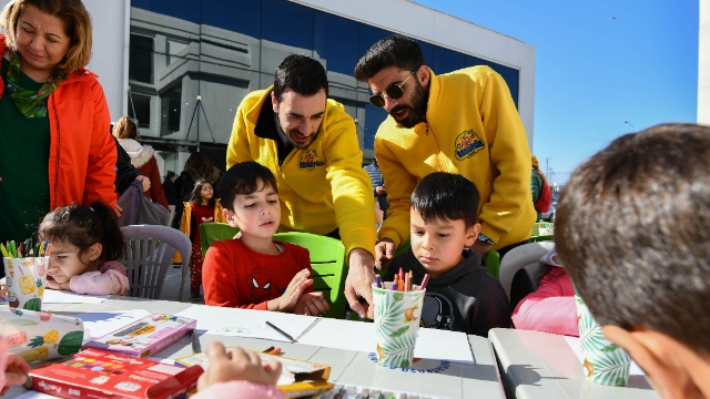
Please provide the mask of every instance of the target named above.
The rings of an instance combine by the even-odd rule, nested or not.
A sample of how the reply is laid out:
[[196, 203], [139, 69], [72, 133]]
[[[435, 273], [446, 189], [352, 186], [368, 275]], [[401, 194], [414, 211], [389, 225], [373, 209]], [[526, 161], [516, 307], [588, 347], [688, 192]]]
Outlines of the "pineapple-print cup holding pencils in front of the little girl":
[[49, 256], [2, 259], [10, 307], [41, 310]]

